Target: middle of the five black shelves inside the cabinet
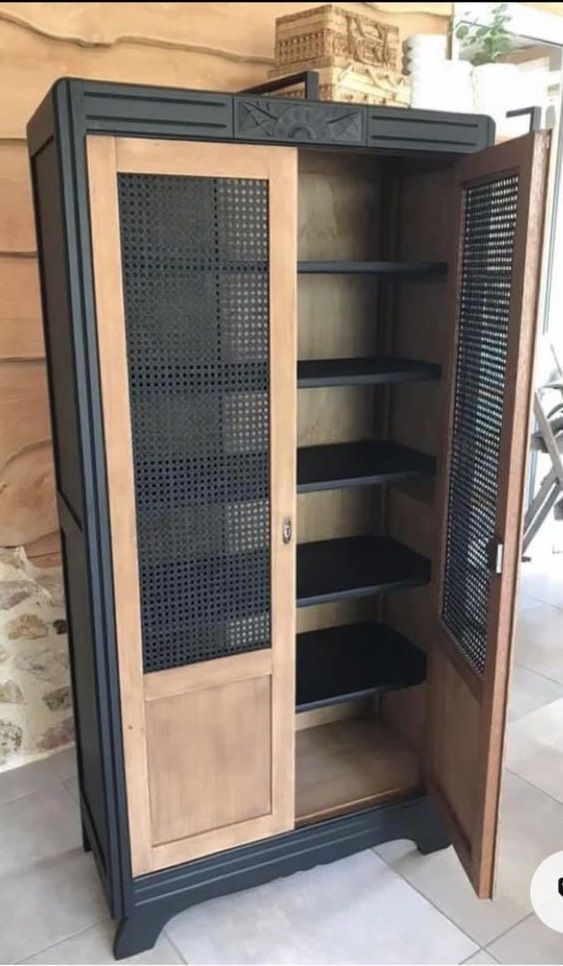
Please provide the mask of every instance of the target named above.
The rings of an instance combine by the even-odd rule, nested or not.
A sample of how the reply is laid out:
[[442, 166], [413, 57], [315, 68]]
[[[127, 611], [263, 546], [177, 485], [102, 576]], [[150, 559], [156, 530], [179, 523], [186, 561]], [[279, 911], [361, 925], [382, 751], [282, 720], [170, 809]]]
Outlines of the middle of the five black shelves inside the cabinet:
[[436, 461], [398, 443], [336, 443], [297, 451], [297, 492], [397, 483], [433, 476]]

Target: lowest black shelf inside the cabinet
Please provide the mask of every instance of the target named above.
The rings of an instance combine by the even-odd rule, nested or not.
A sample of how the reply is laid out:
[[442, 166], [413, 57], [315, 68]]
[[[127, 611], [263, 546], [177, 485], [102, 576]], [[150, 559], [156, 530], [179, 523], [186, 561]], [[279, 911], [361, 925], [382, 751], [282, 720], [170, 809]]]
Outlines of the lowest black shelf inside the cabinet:
[[297, 635], [297, 711], [420, 684], [426, 655], [386, 624]]

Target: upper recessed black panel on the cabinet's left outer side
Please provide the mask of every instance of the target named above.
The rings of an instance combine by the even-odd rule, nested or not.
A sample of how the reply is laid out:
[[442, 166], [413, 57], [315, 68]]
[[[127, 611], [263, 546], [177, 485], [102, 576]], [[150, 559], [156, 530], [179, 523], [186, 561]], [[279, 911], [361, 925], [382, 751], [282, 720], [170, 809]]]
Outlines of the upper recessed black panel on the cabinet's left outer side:
[[[57, 150], [49, 141], [32, 159], [45, 342], [50, 369], [57, 484], [78, 520], [83, 517], [72, 321], [66, 277], [65, 235]], [[56, 370], [56, 372], [55, 372]], [[56, 378], [55, 378], [56, 375]]]

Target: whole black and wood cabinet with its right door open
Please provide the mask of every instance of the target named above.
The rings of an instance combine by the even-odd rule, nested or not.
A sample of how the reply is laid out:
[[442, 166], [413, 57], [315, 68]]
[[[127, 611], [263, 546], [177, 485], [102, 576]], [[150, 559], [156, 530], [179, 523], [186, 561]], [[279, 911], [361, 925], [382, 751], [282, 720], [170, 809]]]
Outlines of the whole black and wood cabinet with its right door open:
[[547, 136], [81, 81], [29, 144], [116, 955], [392, 838], [491, 895]]

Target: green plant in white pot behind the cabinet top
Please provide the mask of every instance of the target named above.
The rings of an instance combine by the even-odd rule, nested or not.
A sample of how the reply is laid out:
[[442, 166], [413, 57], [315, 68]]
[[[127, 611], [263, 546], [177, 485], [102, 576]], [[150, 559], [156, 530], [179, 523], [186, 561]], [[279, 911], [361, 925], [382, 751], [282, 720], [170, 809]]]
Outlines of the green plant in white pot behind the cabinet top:
[[474, 109], [490, 114], [502, 133], [506, 112], [518, 96], [518, 67], [500, 62], [499, 58], [514, 48], [508, 29], [511, 17], [508, 3], [497, 3], [491, 9], [488, 24], [460, 23], [455, 36], [461, 40], [473, 64]]

